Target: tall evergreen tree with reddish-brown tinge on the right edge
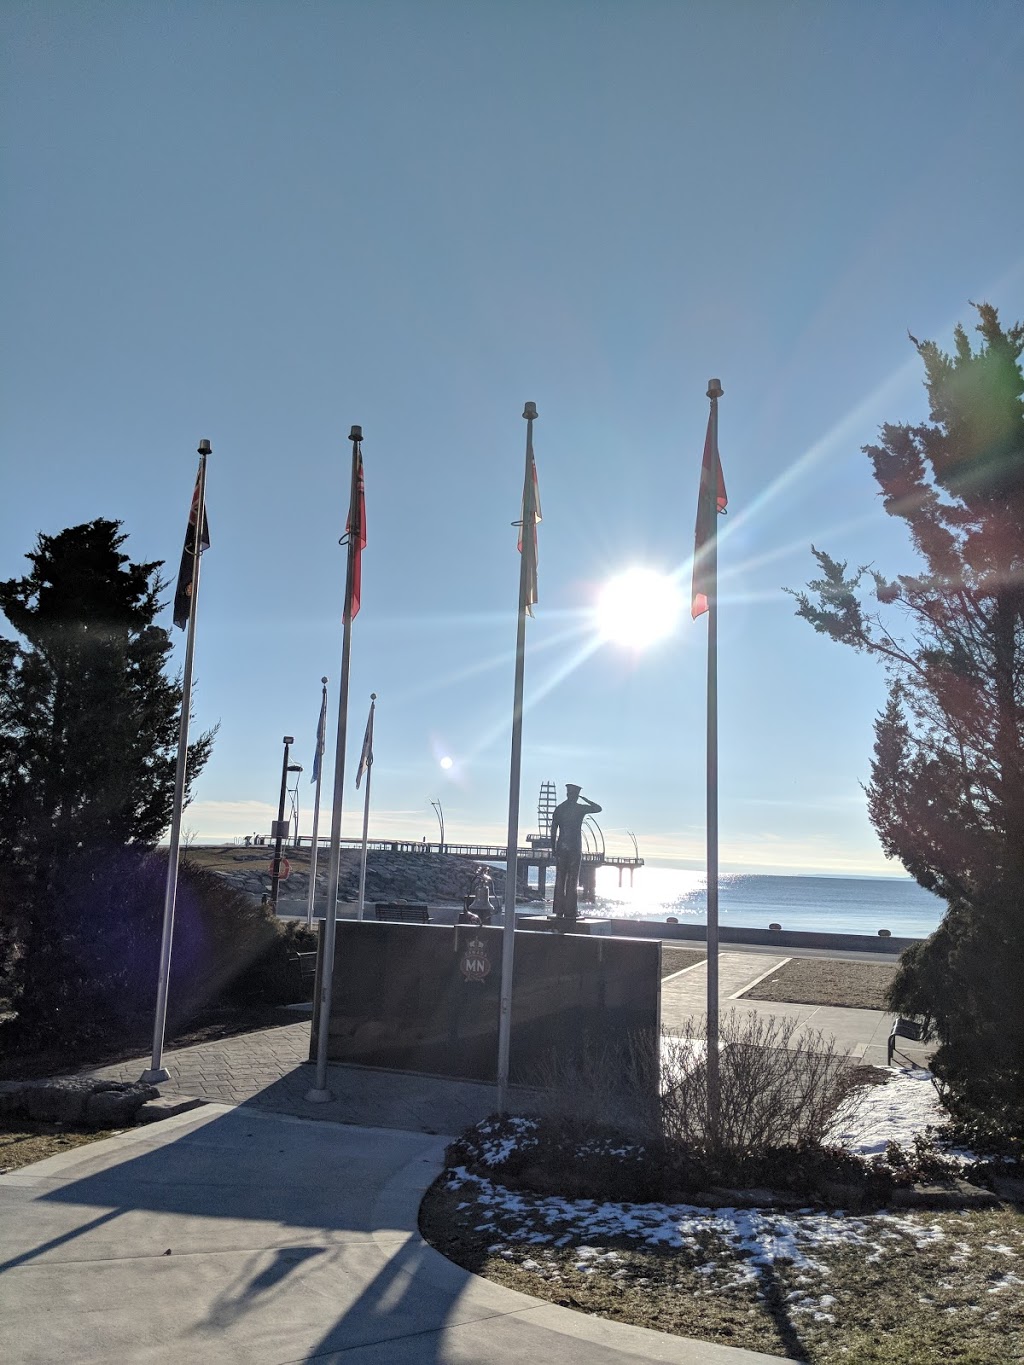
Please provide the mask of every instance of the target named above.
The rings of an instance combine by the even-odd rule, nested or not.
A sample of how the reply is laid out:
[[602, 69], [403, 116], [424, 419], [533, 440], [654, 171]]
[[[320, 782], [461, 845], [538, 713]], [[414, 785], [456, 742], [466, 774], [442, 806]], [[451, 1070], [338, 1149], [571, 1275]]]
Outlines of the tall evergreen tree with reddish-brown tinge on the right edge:
[[982, 345], [911, 337], [931, 422], [866, 446], [883, 505], [922, 568], [887, 580], [814, 550], [797, 614], [877, 655], [868, 814], [885, 852], [942, 897], [904, 954], [890, 1006], [934, 1022], [935, 1072], [956, 1096], [1024, 1118], [1024, 325], [978, 306]]

